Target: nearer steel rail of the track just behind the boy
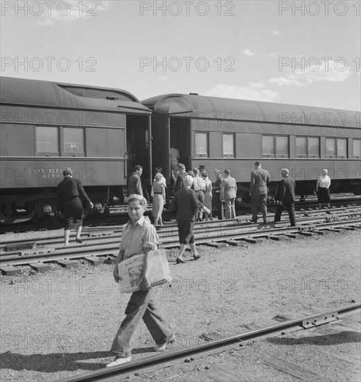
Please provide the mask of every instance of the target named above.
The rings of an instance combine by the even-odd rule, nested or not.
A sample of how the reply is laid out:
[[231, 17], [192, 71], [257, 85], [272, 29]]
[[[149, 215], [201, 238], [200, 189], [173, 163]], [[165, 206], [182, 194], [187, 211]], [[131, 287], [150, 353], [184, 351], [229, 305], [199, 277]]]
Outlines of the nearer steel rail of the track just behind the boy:
[[[360, 214], [359, 214], [360, 215]], [[312, 219], [314, 223], [314, 219]], [[319, 222], [317, 225], [309, 226], [309, 227], [290, 227], [290, 226], [281, 226], [276, 224], [276, 226], [269, 228], [265, 226], [262, 230], [257, 229], [257, 226], [231, 226], [218, 231], [218, 229], [214, 231], [205, 231], [203, 233], [203, 237], [200, 236], [200, 232], [195, 231], [197, 235], [197, 244], [209, 244], [210, 242], [227, 242], [227, 240], [244, 240], [251, 238], [270, 238], [277, 235], [287, 235], [287, 234], [295, 234], [295, 233], [306, 233], [307, 231], [312, 231], [317, 234], [318, 231], [322, 231], [324, 229], [328, 229], [330, 227], [337, 226], [351, 226], [355, 224], [360, 224], [360, 218], [354, 219], [351, 218], [349, 220], [337, 220], [331, 222]], [[208, 230], [208, 227], [206, 227]], [[231, 232], [225, 232], [226, 230], [231, 230]], [[79, 259], [86, 258], [88, 256], [115, 256], [118, 253], [118, 244], [119, 240], [114, 242], [110, 242], [108, 244], [100, 244], [97, 242], [94, 246], [85, 246], [78, 245], [77, 247], [70, 248], [44, 248], [39, 250], [29, 250], [29, 253], [19, 255], [19, 254], [8, 254], [0, 256], [0, 266], [4, 265], [29, 265], [30, 263], [36, 262], [51, 262], [62, 259]], [[179, 241], [177, 236], [168, 236], [161, 240], [159, 243], [159, 247], [161, 248], [172, 248], [178, 247]], [[76, 252], [71, 252], [76, 249]], [[30, 252], [33, 251], [33, 254]]]

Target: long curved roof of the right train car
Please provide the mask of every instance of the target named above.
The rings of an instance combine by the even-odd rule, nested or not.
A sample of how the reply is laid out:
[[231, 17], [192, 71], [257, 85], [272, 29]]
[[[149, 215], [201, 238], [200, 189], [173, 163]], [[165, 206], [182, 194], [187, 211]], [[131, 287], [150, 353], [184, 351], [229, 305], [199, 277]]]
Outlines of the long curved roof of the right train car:
[[360, 112], [352, 110], [204, 97], [197, 94], [163, 94], [141, 103], [156, 113], [177, 117], [360, 128]]

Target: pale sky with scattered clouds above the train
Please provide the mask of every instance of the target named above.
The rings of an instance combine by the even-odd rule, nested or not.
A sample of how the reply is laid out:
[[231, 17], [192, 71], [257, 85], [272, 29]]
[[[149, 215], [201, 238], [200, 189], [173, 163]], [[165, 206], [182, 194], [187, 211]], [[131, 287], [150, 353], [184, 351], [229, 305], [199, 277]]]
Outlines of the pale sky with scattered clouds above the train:
[[1, 1], [1, 76], [360, 110], [360, 1]]

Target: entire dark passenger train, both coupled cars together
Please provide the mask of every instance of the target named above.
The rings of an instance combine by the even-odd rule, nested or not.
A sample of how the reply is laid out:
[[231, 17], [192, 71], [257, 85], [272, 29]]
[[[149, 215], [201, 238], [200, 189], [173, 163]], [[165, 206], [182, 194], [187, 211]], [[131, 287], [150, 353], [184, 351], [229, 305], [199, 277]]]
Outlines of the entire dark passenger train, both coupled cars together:
[[162, 167], [171, 190], [171, 147], [211, 181], [214, 169], [230, 168], [242, 199], [255, 160], [270, 172], [271, 195], [283, 167], [301, 195], [312, 194], [322, 168], [332, 192], [360, 194], [360, 112], [197, 94], [140, 102], [125, 90], [21, 78], [1, 77], [0, 85], [3, 224], [53, 216], [65, 167], [99, 215], [114, 194], [123, 201], [134, 165], [143, 166], [148, 190]]

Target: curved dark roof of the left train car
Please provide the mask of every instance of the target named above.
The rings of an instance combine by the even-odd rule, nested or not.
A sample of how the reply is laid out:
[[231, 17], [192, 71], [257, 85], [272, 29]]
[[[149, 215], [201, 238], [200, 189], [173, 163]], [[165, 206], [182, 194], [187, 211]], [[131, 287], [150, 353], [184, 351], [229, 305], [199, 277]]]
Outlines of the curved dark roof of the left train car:
[[17, 106], [152, 113], [130, 92], [98, 86], [1, 77], [0, 95], [1, 103]]

